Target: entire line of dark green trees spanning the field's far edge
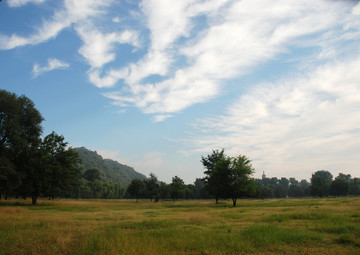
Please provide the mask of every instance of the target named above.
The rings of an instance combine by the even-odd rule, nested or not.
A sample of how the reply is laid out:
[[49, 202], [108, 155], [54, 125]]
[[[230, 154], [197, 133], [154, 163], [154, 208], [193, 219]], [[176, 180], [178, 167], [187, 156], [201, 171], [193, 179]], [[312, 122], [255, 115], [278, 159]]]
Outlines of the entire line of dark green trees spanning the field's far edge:
[[201, 156], [204, 178], [185, 184], [178, 176], [167, 184], [151, 173], [144, 180], [133, 179], [128, 187], [104, 182], [100, 170], [85, 170], [77, 151], [55, 132], [41, 138], [43, 117], [25, 96], [0, 90], [0, 199], [4, 195], [69, 198], [231, 199], [360, 195], [360, 179], [340, 173], [335, 179], [320, 170], [311, 182], [295, 178], [252, 177], [254, 168], [245, 155], [229, 157], [224, 149]]

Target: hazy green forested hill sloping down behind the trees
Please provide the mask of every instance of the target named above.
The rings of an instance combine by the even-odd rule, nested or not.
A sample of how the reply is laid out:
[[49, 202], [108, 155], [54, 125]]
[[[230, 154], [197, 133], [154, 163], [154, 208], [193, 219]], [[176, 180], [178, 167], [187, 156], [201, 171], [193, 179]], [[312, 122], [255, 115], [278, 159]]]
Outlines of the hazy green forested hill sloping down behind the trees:
[[104, 182], [120, 182], [123, 187], [126, 187], [133, 179], [143, 180], [146, 178], [145, 175], [136, 172], [130, 166], [120, 164], [111, 159], [103, 159], [96, 151], [88, 150], [85, 147], [74, 148], [74, 150], [79, 153], [84, 169], [98, 169]]

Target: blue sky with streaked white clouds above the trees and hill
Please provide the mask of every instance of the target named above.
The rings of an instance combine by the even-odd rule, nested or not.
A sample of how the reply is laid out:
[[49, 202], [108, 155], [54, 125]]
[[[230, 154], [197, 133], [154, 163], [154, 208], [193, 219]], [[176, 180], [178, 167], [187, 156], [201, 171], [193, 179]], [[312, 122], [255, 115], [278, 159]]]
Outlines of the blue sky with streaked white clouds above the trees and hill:
[[44, 136], [168, 183], [222, 148], [360, 177], [359, 1], [3, 0], [0, 24], [0, 88]]

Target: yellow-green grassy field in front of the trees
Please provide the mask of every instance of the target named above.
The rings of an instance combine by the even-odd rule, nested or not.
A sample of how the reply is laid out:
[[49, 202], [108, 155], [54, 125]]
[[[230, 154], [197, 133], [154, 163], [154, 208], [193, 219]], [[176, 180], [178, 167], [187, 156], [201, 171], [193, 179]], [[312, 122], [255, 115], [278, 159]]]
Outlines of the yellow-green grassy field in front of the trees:
[[0, 201], [0, 254], [360, 254], [360, 198]]

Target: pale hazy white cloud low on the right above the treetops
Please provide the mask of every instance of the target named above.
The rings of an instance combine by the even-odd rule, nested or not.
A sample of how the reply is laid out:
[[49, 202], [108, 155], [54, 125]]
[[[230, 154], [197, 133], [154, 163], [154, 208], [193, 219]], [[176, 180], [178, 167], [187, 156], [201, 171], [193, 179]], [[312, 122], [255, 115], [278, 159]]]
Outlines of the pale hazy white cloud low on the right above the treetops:
[[[356, 174], [360, 151], [360, 58], [329, 64], [307, 78], [259, 84], [225, 115], [198, 123], [196, 150], [245, 154], [257, 171], [309, 177], [319, 169]], [[214, 135], [217, 134], [217, 135]]]

